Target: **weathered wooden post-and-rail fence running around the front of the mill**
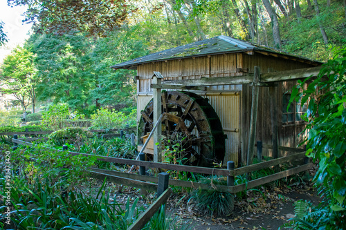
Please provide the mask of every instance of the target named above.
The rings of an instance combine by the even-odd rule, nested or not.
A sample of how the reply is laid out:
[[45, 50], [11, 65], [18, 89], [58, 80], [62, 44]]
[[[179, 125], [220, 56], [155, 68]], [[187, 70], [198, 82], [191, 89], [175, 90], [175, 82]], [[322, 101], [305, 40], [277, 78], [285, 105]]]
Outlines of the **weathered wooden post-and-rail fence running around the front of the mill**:
[[[30, 142], [24, 142], [23, 140], [18, 140], [17, 135], [14, 135], [12, 138], [12, 142], [15, 144], [14, 148], [17, 148], [18, 144], [24, 144], [28, 146], [35, 146]], [[67, 146], [64, 146], [64, 150], [66, 151]], [[270, 146], [266, 146], [270, 147]], [[51, 151], [61, 151], [56, 150], [54, 148], [48, 148]], [[262, 153], [262, 144], [257, 144], [257, 157]], [[288, 151], [287, 148], [284, 151]], [[250, 166], [244, 166], [238, 169], [235, 169], [234, 162], [228, 162], [227, 169], [215, 169], [215, 168], [206, 168], [206, 167], [198, 167], [198, 166], [185, 166], [185, 165], [177, 165], [177, 164], [164, 164], [157, 162], [145, 162], [144, 153], [140, 153], [140, 160], [129, 160], [124, 158], [117, 157], [105, 157], [101, 155], [97, 155], [97, 160], [104, 162], [113, 162], [117, 164], [129, 164], [139, 166], [140, 174], [134, 173], [123, 173], [119, 171], [109, 171], [104, 169], [90, 169], [90, 175], [92, 178], [96, 178], [99, 180], [107, 180], [111, 182], [116, 182], [117, 184], [124, 184], [127, 186], [134, 186], [139, 189], [144, 189], [145, 191], [157, 191], [158, 199], [144, 212], [140, 215], [140, 217], [132, 224], [129, 229], [131, 230], [140, 230], [144, 225], [152, 218], [154, 213], [160, 209], [160, 207], [167, 202], [167, 199], [170, 197], [171, 190], [168, 188], [168, 185], [172, 186], [181, 186], [181, 187], [189, 187], [194, 189], [215, 189], [217, 191], [229, 192], [229, 193], [238, 193], [240, 191], [245, 191], [246, 189], [252, 189], [256, 186], [260, 186], [262, 184], [266, 184], [268, 182], [273, 182], [275, 180], [279, 180], [281, 178], [288, 177], [289, 175], [294, 175], [296, 173], [300, 173], [302, 171], [307, 171], [311, 169], [312, 164], [309, 163], [307, 157], [305, 156], [305, 152], [301, 151], [301, 149], [291, 149], [291, 151], [295, 152], [292, 155], [288, 155], [286, 157], [280, 157], [274, 160], [268, 160], [266, 162], [260, 162], [257, 164], [252, 164]], [[298, 153], [297, 153], [298, 152]], [[95, 156], [87, 153], [75, 153], [69, 151], [71, 155], [86, 155], [86, 156]], [[295, 162], [297, 166], [293, 169], [287, 169], [285, 171], [274, 173], [273, 175], [265, 176], [264, 178], [259, 178], [256, 180], [248, 181], [244, 184], [235, 185], [235, 176], [237, 175], [246, 175], [247, 173], [251, 173], [253, 171], [268, 169], [271, 166], [277, 166], [279, 164], [283, 164], [286, 162]], [[300, 165], [301, 164], [301, 165]], [[190, 173], [203, 173], [209, 175], [223, 175], [227, 178], [227, 186], [218, 185], [218, 184], [204, 184], [199, 182], [191, 182], [185, 180], [172, 180], [169, 179], [169, 175], [167, 173], [159, 173], [158, 177], [145, 175], [145, 168], [154, 168], [154, 169], [168, 169], [173, 171], [185, 171]], [[162, 179], [164, 178], [164, 179]]]

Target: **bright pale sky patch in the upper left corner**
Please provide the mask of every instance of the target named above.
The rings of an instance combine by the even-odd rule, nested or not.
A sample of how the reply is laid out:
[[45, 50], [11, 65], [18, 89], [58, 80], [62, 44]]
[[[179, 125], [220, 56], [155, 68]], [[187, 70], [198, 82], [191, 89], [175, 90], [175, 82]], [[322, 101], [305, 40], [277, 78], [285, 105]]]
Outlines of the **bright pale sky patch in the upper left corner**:
[[3, 58], [10, 54], [11, 50], [17, 45], [24, 43], [28, 39], [28, 32], [31, 25], [23, 24], [21, 21], [24, 19], [23, 13], [25, 7], [15, 6], [11, 8], [7, 6], [6, 0], [0, 0], [0, 19], [5, 23], [3, 30], [7, 32], [8, 43], [0, 46], [0, 63]]

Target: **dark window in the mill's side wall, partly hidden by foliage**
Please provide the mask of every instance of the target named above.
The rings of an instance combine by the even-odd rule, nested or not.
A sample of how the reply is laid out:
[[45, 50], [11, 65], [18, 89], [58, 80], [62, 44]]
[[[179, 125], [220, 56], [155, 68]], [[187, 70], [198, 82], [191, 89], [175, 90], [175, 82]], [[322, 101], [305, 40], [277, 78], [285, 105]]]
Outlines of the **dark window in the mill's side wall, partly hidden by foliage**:
[[[292, 102], [289, 106], [289, 99], [291, 94], [284, 94], [282, 97], [282, 122], [291, 123], [291, 122], [300, 122], [302, 121], [302, 115], [307, 112], [307, 103], [301, 105], [301, 98], [298, 102]], [[289, 110], [287, 111], [287, 106]]]

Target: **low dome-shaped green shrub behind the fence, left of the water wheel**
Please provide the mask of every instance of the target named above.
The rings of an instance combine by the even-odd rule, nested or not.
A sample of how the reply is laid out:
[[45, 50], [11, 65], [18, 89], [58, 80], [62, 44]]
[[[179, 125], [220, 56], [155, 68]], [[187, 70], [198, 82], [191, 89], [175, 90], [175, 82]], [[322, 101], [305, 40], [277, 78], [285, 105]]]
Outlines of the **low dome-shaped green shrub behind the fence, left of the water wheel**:
[[82, 144], [88, 137], [93, 134], [78, 127], [64, 128], [51, 133], [48, 136], [48, 143], [62, 146], [63, 144]]

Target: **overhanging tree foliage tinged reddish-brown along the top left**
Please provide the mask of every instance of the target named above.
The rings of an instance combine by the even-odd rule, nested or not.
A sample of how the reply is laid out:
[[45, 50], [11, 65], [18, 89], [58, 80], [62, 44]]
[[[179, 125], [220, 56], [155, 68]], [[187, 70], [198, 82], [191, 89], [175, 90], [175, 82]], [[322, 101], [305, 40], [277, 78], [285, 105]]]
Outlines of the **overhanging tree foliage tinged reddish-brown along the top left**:
[[25, 21], [36, 32], [85, 32], [104, 37], [118, 30], [134, 8], [125, 0], [8, 0], [9, 6], [26, 5]]

